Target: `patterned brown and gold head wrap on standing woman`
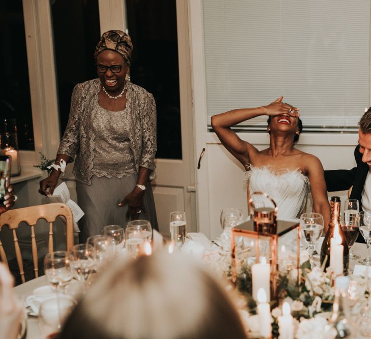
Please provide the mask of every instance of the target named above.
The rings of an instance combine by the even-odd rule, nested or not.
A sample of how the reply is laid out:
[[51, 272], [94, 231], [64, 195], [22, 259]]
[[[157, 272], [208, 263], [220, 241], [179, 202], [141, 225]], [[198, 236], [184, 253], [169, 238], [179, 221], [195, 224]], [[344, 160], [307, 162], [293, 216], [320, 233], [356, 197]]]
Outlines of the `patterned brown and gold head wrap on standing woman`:
[[95, 46], [95, 60], [97, 60], [98, 54], [106, 49], [120, 53], [124, 57], [126, 63], [129, 66], [131, 65], [133, 44], [131, 43], [130, 37], [122, 32], [122, 30], [108, 30], [103, 33], [97, 46]]

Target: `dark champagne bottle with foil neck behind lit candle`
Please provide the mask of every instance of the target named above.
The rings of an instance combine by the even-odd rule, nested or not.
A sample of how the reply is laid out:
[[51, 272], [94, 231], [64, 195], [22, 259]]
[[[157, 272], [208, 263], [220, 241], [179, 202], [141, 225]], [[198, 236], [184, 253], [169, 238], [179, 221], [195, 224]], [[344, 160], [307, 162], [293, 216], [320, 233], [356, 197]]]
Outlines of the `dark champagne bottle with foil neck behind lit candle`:
[[340, 244], [343, 245], [344, 247], [343, 273], [347, 275], [349, 268], [349, 248], [344, 232], [340, 227], [340, 198], [331, 197], [330, 207], [331, 207], [330, 224], [327, 229], [325, 238], [323, 239], [321, 247], [321, 266], [323, 265], [324, 262], [325, 268], [327, 268], [330, 265], [331, 238], [334, 236], [335, 225], [337, 225], [339, 235], [341, 237]]

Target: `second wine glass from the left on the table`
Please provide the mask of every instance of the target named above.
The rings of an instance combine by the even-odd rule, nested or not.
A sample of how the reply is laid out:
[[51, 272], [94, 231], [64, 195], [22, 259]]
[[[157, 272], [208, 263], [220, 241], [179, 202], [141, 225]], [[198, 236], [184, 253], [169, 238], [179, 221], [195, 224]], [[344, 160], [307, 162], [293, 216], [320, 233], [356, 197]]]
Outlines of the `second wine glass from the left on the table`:
[[77, 281], [85, 286], [96, 269], [93, 246], [87, 243], [74, 245], [70, 251], [70, 267]]

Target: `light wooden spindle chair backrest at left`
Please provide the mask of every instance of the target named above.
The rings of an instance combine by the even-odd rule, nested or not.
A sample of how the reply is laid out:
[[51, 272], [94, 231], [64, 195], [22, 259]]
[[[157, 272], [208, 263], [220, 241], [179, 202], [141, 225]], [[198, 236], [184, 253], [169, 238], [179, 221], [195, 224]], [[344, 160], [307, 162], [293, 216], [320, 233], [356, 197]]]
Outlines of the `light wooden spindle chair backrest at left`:
[[[24, 222], [31, 228], [31, 248], [32, 260], [34, 263], [35, 278], [39, 276], [38, 273], [38, 255], [35, 236], [35, 225], [39, 219], [44, 219], [49, 223], [49, 239], [48, 239], [48, 253], [53, 252], [53, 222], [56, 218], [62, 215], [66, 220], [66, 249], [69, 251], [73, 246], [73, 216], [71, 209], [64, 203], [51, 203], [45, 205], [37, 205], [24, 208], [16, 208], [6, 211], [0, 215], [0, 231], [3, 226], [8, 225], [13, 232], [13, 241], [15, 256], [19, 267], [22, 283], [25, 282], [22, 255], [19, 248], [16, 228], [19, 224]], [[0, 259], [3, 263], [8, 265], [7, 256], [5, 254], [3, 243], [0, 240]]]

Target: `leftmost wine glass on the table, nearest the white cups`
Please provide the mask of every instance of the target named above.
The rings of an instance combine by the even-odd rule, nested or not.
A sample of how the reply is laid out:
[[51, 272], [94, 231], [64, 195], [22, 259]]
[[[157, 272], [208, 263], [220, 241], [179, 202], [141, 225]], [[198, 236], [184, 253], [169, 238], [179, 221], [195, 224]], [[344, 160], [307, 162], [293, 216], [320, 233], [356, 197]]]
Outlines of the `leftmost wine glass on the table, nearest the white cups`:
[[44, 258], [44, 271], [46, 279], [55, 287], [55, 290], [61, 288], [64, 293], [64, 288], [73, 278], [68, 252], [48, 253]]

